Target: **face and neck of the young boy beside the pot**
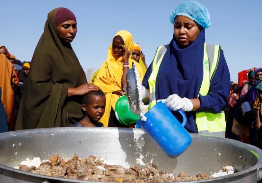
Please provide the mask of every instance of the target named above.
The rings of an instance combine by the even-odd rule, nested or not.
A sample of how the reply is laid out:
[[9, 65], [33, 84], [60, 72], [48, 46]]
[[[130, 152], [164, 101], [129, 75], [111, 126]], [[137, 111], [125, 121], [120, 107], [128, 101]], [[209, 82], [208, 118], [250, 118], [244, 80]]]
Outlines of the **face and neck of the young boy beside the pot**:
[[82, 110], [85, 112], [85, 117], [79, 121], [86, 127], [95, 127], [105, 113], [106, 97], [92, 95], [89, 98], [88, 105], [82, 104]]

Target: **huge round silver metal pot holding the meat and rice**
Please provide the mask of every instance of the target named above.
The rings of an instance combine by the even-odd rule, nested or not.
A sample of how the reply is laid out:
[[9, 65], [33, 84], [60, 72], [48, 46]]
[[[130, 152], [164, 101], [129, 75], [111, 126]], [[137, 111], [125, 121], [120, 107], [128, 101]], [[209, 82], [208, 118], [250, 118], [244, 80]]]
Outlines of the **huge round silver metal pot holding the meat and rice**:
[[[26, 158], [47, 159], [54, 153], [63, 157], [100, 155], [124, 167], [136, 164], [140, 153], [147, 163], [154, 158], [159, 170], [167, 173], [185, 171], [188, 175], [218, 172], [234, 166], [237, 173], [191, 182], [240, 183], [261, 180], [262, 151], [238, 141], [191, 134], [191, 146], [179, 157], [170, 159], [156, 147], [141, 129], [127, 128], [49, 128], [7, 132], [0, 135], [0, 182], [88, 182], [49, 177], [11, 168]], [[147, 156], [146, 156], [147, 155]], [[139, 165], [138, 165], [139, 166]], [[140, 166], [141, 167], [141, 166]]]

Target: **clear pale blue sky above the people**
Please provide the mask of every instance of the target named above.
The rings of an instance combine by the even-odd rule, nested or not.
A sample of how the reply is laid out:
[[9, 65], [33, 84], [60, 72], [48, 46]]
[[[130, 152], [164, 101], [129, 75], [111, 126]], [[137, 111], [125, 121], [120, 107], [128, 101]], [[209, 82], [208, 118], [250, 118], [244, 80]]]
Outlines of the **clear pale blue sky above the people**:
[[[100, 68], [115, 33], [127, 30], [145, 53], [147, 64], [156, 48], [172, 39], [170, 13], [181, 0], [8, 0], [1, 2], [0, 45], [21, 61], [31, 61], [54, 8], [70, 9], [78, 32], [72, 47], [84, 69]], [[262, 0], [199, 0], [209, 11], [206, 42], [222, 46], [231, 73], [262, 67]]]

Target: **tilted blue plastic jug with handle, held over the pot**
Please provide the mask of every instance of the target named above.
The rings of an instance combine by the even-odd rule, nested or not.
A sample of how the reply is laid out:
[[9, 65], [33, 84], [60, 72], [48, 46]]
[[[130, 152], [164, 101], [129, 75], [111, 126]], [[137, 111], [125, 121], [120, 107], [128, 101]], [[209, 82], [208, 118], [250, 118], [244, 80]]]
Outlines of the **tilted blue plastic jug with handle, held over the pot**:
[[184, 128], [186, 114], [182, 110], [178, 112], [183, 116], [182, 124], [162, 102], [158, 102], [145, 114], [147, 121], [142, 121], [140, 118], [136, 123], [136, 128], [142, 128], [171, 158], [181, 155], [192, 142], [191, 135]]

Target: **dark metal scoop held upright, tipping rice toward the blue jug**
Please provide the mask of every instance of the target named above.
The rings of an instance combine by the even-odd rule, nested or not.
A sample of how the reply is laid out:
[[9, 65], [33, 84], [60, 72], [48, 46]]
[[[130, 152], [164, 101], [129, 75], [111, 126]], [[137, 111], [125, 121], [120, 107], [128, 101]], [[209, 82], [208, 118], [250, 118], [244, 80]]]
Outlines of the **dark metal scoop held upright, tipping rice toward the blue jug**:
[[[138, 76], [139, 77], [139, 76]], [[126, 95], [131, 111], [140, 115], [139, 94], [136, 82], [135, 64], [126, 72]]]

